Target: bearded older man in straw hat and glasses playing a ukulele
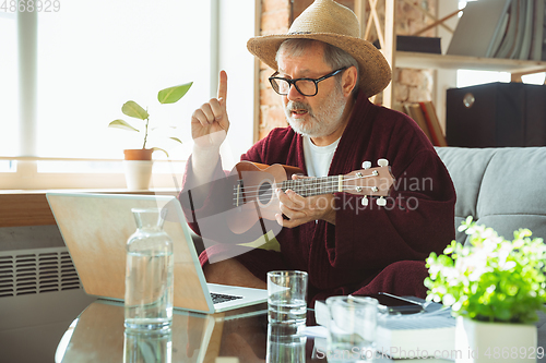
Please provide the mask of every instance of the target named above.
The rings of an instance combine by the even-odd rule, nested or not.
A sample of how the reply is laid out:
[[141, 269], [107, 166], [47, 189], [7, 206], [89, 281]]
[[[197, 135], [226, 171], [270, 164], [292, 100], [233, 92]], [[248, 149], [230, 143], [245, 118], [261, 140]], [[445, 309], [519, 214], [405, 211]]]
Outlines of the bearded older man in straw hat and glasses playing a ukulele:
[[[316, 0], [288, 34], [249, 40], [249, 50], [276, 70], [270, 82], [282, 97], [289, 126], [273, 130], [241, 159], [324, 177], [385, 158], [396, 178], [387, 205], [367, 205], [361, 196], [344, 192], [305, 197], [277, 190], [280, 249], [218, 243], [201, 255], [209, 281], [264, 288], [268, 270], [299, 269], [309, 273], [311, 304], [334, 294], [425, 295], [424, 259], [454, 238], [453, 184], [413, 120], [368, 100], [389, 84], [391, 70], [358, 35], [349, 9]], [[218, 98], [192, 116], [195, 144], [186, 191], [225, 176], [218, 148], [229, 129], [226, 96], [227, 75], [222, 72]], [[214, 208], [206, 203], [212, 194], [201, 195], [197, 208]], [[202, 229], [199, 220], [192, 227]], [[235, 257], [209, 263], [223, 254]]]

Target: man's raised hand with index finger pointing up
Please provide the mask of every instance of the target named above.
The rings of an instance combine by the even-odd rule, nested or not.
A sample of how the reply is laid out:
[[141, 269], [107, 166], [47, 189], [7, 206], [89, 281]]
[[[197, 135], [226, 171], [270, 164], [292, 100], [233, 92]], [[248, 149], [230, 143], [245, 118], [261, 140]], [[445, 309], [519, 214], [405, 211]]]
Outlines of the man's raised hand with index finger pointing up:
[[200, 148], [219, 148], [227, 135], [227, 74], [219, 72], [218, 97], [203, 104], [191, 116], [191, 137]]

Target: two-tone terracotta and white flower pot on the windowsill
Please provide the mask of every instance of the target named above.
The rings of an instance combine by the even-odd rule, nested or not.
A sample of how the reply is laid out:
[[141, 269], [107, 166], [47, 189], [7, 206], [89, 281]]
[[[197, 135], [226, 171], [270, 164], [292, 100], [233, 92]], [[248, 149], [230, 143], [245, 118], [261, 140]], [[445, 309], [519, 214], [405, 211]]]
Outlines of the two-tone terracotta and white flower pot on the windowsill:
[[150, 189], [152, 180], [152, 169], [154, 161], [152, 160], [151, 148], [126, 149], [123, 154], [126, 160], [123, 168], [126, 170], [127, 189], [130, 191], [145, 191]]

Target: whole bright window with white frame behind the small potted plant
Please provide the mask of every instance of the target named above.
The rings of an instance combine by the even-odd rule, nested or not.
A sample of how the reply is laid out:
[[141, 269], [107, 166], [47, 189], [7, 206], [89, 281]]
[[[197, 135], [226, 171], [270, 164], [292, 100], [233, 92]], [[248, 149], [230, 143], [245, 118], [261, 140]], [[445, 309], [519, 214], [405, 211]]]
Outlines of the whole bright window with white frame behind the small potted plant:
[[[78, 174], [88, 173], [98, 174], [97, 179], [103, 180], [106, 177], [107, 180], [99, 183], [103, 186], [122, 187], [121, 162], [108, 160], [121, 159], [124, 148], [142, 147], [143, 140], [140, 133], [107, 128], [118, 118], [135, 125], [140, 122], [121, 112], [123, 102], [134, 100], [147, 108], [151, 126], [158, 128], [150, 135], [147, 146], [165, 148], [170, 159], [185, 160], [192, 145], [191, 113], [215, 95], [218, 68], [232, 66], [232, 59], [244, 59], [239, 62], [242, 65], [229, 70], [229, 75], [241, 80], [245, 86], [250, 84], [248, 93], [252, 95], [253, 83], [249, 83], [253, 77], [252, 57], [240, 40], [237, 49], [219, 49], [219, 37], [238, 36], [246, 41], [253, 36], [253, 0], [244, 0], [244, 8], [249, 12], [237, 17], [235, 29], [227, 33], [219, 31], [222, 24], [232, 27], [234, 24], [223, 16], [232, 14], [230, 8], [235, 4], [221, 0], [58, 2], [58, 11], [43, 9], [35, 12], [35, 16], [0, 11], [0, 64], [3, 68], [0, 97], [7, 105], [2, 106], [0, 118], [0, 157], [3, 157], [0, 158], [0, 173], [3, 172], [0, 189], [19, 189], [17, 180], [28, 179], [24, 172], [31, 172], [31, 179], [37, 178], [34, 186], [28, 186], [35, 189], [93, 187], [78, 181], [82, 177]], [[240, 5], [238, 3], [237, 9]], [[28, 31], [33, 26], [36, 27], [34, 35]], [[193, 86], [180, 101], [159, 105], [156, 98], [159, 89], [187, 82], [193, 82]], [[232, 97], [229, 101], [229, 109], [238, 109], [241, 100]], [[244, 107], [252, 110], [248, 105]], [[250, 130], [251, 135], [253, 114], [246, 114], [238, 122], [240, 128]], [[170, 135], [183, 144], [168, 140]], [[248, 148], [251, 142], [251, 137], [245, 136], [238, 146]], [[37, 165], [21, 158], [19, 165], [8, 160], [8, 157], [24, 156], [38, 158]], [[154, 167], [154, 173], [165, 173], [166, 180], [173, 180], [174, 168], [179, 174], [183, 170], [183, 165], [166, 162], [164, 156], [154, 155], [154, 158], [165, 160], [157, 164], [157, 170]], [[68, 180], [61, 184], [50, 183], [46, 182], [48, 176]]]

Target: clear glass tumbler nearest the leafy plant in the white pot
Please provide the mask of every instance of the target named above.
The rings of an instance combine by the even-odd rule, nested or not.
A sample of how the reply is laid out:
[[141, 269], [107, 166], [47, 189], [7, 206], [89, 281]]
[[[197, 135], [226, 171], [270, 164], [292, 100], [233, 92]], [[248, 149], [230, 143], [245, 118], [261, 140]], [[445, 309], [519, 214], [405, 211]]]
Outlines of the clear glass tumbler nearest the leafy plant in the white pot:
[[332, 297], [328, 331], [329, 362], [372, 361], [376, 346], [378, 301], [373, 298]]

